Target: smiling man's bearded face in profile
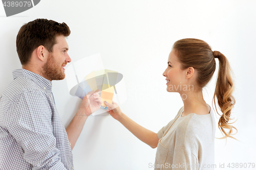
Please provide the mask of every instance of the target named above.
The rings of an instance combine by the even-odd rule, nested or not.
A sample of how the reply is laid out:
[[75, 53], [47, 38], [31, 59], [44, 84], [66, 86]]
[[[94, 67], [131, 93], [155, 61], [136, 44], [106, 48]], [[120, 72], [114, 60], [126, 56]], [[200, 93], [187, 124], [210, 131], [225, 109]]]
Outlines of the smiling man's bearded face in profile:
[[65, 67], [71, 58], [68, 55], [69, 46], [63, 35], [56, 37], [57, 43], [53, 45], [53, 52], [49, 53], [47, 62], [42, 67], [42, 73], [48, 80], [63, 80]]

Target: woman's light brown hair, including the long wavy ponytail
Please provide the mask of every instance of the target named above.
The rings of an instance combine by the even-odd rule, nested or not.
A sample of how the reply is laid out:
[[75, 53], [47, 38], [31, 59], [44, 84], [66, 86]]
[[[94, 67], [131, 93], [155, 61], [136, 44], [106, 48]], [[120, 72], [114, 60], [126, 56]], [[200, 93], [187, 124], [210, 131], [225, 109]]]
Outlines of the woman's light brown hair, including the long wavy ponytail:
[[[173, 45], [173, 50], [181, 63], [181, 69], [188, 67], [194, 67], [198, 71], [197, 87], [202, 89], [214, 75], [216, 68], [215, 58], [219, 59], [219, 72], [214, 93], [214, 105], [216, 107], [216, 98], [218, 105], [222, 112], [219, 119], [218, 127], [224, 133], [224, 137], [219, 139], [225, 139], [232, 137], [234, 126], [228, 123], [230, 120], [231, 109], [234, 107], [236, 100], [233, 98], [232, 93], [234, 91], [234, 85], [231, 78], [231, 68], [227, 58], [218, 51], [211, 51], [211, 47], [203, 40], [186, 38], [178, 40]], [[224, 129], [229, 130], [226, 132]], [[236, 133], [235, 133], [236, 134]]]

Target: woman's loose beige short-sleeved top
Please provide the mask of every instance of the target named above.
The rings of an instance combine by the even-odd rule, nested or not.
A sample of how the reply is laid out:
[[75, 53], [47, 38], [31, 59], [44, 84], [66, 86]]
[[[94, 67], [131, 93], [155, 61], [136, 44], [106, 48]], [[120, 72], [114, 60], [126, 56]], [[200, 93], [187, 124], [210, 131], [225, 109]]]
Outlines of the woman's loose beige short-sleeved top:
[[181, 117], [184, 106], [157, 133], [156, 169], [214, 169], [215, 118], [190, 113]]

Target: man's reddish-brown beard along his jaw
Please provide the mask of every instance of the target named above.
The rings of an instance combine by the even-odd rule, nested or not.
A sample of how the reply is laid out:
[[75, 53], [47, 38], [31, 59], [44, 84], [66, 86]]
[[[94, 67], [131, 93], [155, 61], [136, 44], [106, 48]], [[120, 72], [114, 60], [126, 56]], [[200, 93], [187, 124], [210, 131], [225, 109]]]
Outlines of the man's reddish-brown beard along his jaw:
[[61, 65], [54, 60], [53, 55], [50, 53], [44, 66], [42, 66], [42, 76], [50, 81], [63, 80], [65, 78], [64, 72], [61, 70]]

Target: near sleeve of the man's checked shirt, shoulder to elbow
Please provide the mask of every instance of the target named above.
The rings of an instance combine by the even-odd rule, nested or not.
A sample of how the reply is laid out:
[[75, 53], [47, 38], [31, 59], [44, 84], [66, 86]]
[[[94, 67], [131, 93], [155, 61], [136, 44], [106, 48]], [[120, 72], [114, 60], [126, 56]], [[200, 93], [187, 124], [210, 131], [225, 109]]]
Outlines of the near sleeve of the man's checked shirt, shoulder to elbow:
[[17, 101], [6, 127], [22, 147], [24, 159], [34, 170], [66, 169], [56, 148], [52, 112], [46, 97], [39, 91], [23, 91]]

